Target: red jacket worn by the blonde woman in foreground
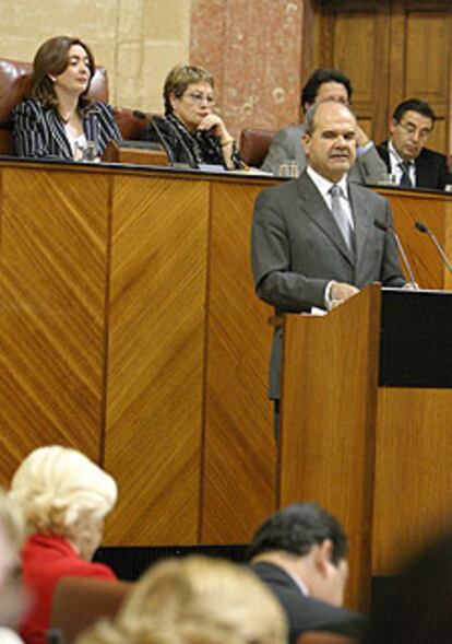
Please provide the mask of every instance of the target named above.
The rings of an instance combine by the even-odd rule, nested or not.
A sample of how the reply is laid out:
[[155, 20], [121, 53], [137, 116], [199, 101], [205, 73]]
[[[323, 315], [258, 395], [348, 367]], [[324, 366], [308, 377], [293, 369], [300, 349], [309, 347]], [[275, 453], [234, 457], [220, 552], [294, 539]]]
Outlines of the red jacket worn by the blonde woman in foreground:
[[85, 561], [66, 539], [56, 535], [29, 537], [22, 550], [22, 571], [32, 596], [32, 606], [20, 627], [27, 644], [45, 644], [53, 592], [62, 577], [117, 578], [107, 565]]

